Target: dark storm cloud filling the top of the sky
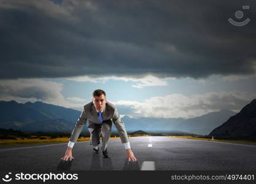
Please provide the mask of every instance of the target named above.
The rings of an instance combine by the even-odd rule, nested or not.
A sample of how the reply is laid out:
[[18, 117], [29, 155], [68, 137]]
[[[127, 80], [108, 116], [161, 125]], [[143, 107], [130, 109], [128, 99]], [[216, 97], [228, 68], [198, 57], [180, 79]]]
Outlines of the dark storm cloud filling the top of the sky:
[[0, 1], [1, 79], [255, 72], [255, 1], [56, 2]]

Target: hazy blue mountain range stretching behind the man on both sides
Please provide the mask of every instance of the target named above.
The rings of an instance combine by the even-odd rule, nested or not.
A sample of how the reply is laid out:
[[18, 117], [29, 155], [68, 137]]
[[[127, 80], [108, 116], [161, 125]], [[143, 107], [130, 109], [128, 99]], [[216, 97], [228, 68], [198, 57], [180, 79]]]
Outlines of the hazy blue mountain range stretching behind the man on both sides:
[[[0, 101], [0, 128], [19, 129], [21, 131], [71, 132], [80, 112], [44, 102]], [[200, 117], [184, 118], [131, 118], [124, 116], [126, 130], [147, 132], [188, 132], [208, 135], [214, 128], [222, 125], [228, 118], [235, 115], [230, 110], [207, 113]], [[83, 131], [87, 131], [84, 126]], [[112, 131], [117, 131], [112, 126]]]

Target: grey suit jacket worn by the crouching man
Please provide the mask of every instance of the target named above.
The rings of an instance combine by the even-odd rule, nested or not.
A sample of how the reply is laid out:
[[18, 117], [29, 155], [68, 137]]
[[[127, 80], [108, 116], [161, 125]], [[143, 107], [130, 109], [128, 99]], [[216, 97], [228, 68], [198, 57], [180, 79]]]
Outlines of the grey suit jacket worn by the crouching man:
[[[117, 112], [117, 108], [114, 106], [114, 104], [111, 104], [110, 102], [106, 103], [102, 113], [102, 117], [103, 117], [103, 121], [111, 120], [112, 123], [114, 123], [115, 127], [117, 128], [118, 134], [121, 137], [122, 143], [129, 142], [127, 132], [125, 129], [125, 124], [121, 120]], [[92, 132], [95, 129], [96, 124], [101, 124], [99, 122], [98, 113], [95, 109], [95, 106], [93, 105], [93, 102], [90, 102], [83, 106], [82, 113], [78, 118], [76, 122], [76, 126], [73, 129], [71, 136], [69, 138], [71, 142], [77, 142], [80, 132], [83, 129], [83, 125], [86, 123], [87, 119], [88, 119], [87, 127], [90, 132]]]

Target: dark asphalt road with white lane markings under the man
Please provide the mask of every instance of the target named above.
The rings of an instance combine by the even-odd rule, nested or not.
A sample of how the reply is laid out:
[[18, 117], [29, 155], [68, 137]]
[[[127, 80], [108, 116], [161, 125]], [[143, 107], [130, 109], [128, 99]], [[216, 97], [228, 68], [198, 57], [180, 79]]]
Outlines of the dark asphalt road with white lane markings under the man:
[[73, 161], [61, 161], [67, 144], [0, 147], [0, 171], [171, 170], [255, 171], [256, 146], [169, 137], [130, 137], [137, 162], [126, 161], [120, 139], [111, 139], [110, 158], [93, 153], [89, 142], [77, 142]]

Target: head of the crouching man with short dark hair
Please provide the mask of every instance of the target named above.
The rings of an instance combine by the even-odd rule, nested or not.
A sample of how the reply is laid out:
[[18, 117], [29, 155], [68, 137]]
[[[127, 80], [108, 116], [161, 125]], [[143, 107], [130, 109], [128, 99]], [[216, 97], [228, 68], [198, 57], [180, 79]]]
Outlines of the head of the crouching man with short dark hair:
[[103, 90], [95, 90], [93, 91], [93, 104], [98, 111], [104, 109], [106, 105], [106, 93]]

